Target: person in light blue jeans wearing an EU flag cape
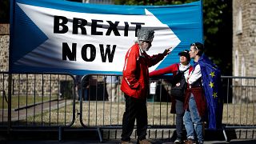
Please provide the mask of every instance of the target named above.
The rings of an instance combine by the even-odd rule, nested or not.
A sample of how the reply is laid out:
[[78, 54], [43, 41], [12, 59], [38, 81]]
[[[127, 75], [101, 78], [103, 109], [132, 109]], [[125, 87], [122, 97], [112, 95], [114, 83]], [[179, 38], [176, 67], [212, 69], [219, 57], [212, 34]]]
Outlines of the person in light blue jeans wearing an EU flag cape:
[[186, 143], [194, 143], [195, 136], [198, 143], [203, 143], [203, 120], [208, 122], [208, 128], [211, 130], [216, 130], [222, 124], [220, 71], [203, 54], [203, 50], [200, 42], [190, 45], [190, 58], [194, 58], [194, 70], [188, 77], [190, 86], [184, 105], [186, 112], [183, 118], [188, 138]]

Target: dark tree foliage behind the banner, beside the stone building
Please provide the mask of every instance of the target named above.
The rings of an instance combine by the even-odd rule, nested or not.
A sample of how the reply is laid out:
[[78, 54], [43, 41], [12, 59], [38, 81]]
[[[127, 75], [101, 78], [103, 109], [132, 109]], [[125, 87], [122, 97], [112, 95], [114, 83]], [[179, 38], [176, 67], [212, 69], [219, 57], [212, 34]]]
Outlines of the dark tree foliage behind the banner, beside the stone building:
[[[118, 5], [175, 5], [197, 0], [115, 0]], [[232, 1], [204, 0], [203, 26], [205, 53], [222, 70], [232, 74]]]

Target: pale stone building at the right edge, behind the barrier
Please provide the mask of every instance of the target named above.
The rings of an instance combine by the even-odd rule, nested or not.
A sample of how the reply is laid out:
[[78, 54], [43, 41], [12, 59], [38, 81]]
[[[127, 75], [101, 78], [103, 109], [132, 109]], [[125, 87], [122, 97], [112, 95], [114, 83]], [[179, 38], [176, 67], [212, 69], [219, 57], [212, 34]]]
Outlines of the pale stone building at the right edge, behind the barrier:
[[[233, 75], [256, 76], [256, 1], [233, 0]], [[255, 79], [235, 78], [233, 103], [255, 101]], [[238, 89], [238, 90], [236, 90]]]

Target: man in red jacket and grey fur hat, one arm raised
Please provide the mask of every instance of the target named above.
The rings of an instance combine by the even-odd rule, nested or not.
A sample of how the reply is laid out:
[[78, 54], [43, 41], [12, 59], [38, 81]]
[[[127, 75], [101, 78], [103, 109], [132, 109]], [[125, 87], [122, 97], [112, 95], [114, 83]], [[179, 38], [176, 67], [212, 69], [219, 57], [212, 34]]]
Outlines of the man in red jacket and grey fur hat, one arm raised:
[[126, 53], [125, 65], [122, 70], [123, 78], [121, 90], [126, 98], [126, 111], [122, 118], [122, 143], [130, 143], [130, 135], [137, 122], [138, 143], [150, 143], [146, 140], [147, 110], [146, 98], [149, 94], [149, 67], [160, 62], [170, 48], [162, 54], [149, 56], [146, 51], [150, 49], [154, 38], [154, 30], [139, 29], [138, 42], [135, 42]]

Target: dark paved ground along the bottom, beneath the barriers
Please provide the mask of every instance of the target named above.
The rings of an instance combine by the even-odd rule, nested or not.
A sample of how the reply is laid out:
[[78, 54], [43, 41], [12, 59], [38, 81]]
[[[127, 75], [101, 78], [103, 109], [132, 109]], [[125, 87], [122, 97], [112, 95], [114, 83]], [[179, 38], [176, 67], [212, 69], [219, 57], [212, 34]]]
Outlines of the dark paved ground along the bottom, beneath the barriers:
[[[120, 143], [120, 134], [115, 133], [116, 137], [111, 137], [111, 134], [102, 131], [103, 142], [99, 142], [98, 131], [85, 129], [70, 129], [62, 132], [62, 137], [58, 137], [58, 131], [51, 130], [12, 130], [8, 134], [5, 130], [0, 130], [0, 144], [82, 144], [82, 143]], [[108, 131], [108, 130], [106, 130]], [[118, 130], [117, 130], [118, 131]], [[231, 139], [226, 142], [222, 134], [222, 130], [206, 130], [205, 143], [206, 144], [256, 144], [255, 130], [226, 130], [227, 138]], [[104, 137], [104, 135], [108, 137]], [[154, 136], [154, 134], [151, 134]], [[62, 141], [59, 142], [58, 138]], [[173, 134], [170, 137], [149, 137], [153, 144], [172, 144], [176, 138]], [[110, 140], [108, 140], [110, 139]], [[136, 140], [132, 138], [135, 144]]]

